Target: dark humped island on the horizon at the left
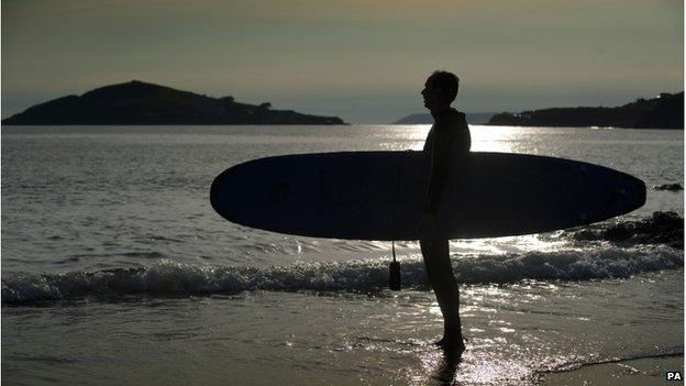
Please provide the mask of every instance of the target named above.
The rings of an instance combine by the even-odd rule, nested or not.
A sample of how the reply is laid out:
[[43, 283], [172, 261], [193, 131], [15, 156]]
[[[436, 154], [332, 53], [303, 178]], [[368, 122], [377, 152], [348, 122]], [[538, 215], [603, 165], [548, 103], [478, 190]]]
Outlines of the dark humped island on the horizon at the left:
[[338, 117], [308, 115], [211, 98], [132, 80], [82, 96], [33, 106], [2, 124], [346, 124]]

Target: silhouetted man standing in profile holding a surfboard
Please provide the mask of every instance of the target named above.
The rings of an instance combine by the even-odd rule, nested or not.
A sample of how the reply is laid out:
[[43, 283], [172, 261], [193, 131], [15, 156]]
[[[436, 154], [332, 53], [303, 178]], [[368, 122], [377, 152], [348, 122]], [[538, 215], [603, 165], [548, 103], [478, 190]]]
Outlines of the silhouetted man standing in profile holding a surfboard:
[[443, 313], [443, 338], [436, 342], [446, 350], [464, 350], [460, 322], [460, 293], [450, 262], [447, 239], [436, 228], [435, 212], [441, 206], [450, 159], [469, 152], [472, 140], [465, 114], [451, 108], [460, 79], [452, 73], [434, 71], [421, 95], [434, 123], [427, 135], [423, 152], [431, 156], [423, 212], [418, 222], [420, 247], [427, 276]]

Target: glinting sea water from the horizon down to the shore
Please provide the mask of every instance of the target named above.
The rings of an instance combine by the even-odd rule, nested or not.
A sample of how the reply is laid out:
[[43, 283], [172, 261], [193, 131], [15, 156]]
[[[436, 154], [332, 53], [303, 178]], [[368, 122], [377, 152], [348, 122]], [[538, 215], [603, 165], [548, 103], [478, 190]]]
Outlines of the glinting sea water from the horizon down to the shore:
[[[444, 355], [419, 245], [224, 221], [214, 176], [256, 157], [419, 150], [427, 125], [2, 128], [8, 385], [534, 385], [683, 355], [683, 131], [472, 126], [473, 151], [643, 179], [646, 205], [579, 229], [451, 241], [467, 351]], [[672, 370], [672, 368], [668, 368]], [[682, 368], [683, 370], [683, 368]], [[667, 371], [667, 368], [665, 368]]]

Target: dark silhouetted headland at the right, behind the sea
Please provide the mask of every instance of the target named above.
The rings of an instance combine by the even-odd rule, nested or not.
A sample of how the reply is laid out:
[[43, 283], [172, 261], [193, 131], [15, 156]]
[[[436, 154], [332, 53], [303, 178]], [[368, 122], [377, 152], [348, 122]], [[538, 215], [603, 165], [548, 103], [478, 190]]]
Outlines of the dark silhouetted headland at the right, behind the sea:
[[616, 108], [579, 107], [504, 112], [488, 124], [516, 126], [613, 126], [633, 129], [684, 129], [684, 92], [663, 92]]

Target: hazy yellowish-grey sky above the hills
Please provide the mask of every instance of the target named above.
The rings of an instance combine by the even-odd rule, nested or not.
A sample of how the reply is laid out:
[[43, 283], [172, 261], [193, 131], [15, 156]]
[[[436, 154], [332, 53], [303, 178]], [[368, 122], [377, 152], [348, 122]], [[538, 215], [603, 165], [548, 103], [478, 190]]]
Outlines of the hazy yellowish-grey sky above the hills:
[[617, 106], [684, 84], [682, 0], [2, 0], [2, 117], [139, 79], [387, 123], [436, 68], [467, 112]]

